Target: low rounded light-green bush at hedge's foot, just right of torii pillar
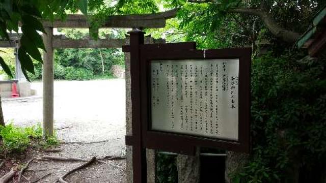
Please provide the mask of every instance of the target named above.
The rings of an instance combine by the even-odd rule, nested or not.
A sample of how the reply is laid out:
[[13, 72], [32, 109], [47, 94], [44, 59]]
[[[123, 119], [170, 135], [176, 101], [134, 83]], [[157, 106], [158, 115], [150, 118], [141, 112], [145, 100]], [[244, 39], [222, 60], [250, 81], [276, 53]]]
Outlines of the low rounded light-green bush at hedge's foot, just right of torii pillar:
[[66, 77], [67, 80], [90, 80], [93, 78], [93, 72], [84, 68], [66, 68]]

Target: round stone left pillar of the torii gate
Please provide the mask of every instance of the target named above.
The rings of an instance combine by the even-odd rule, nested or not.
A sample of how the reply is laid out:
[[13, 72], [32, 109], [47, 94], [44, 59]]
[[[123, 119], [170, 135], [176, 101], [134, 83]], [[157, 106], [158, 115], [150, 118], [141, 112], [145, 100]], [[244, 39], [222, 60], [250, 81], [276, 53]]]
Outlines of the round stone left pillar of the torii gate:
[[53, 135], [53, 28], [44, 27], [43, 42], [43, 136]]

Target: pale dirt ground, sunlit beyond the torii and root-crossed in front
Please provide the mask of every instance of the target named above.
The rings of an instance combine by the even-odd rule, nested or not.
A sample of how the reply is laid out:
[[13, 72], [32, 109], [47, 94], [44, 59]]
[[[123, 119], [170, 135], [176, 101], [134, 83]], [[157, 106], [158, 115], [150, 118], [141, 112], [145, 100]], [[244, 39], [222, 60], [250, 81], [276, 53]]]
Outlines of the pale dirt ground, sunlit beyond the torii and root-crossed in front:
[[[106, 157], [125, 156], [125, 81], [56, 81], [55, 129], [62, 149], [59, 153], [32, 152], [17, 160], [27, 162], [41, 156], [90, 159], [106, 163], [92, 165], [68, 175], [68, 182], [125, 182], [125, 160]], [[38, 96], [3, 99], [6, 124], [31, 126], [42, 121], [42, 83], [32, 83]], [[11, 162], [7, 162], [10, 164]], [[32, 182], [56, 182], [65, 172], [84, 162], [33, 161], [24, 175]], [[7, 172], [3, 168], [0, 175]], [[17, 177], [14, 178], [14, 180]], [[13, 181], [15, 182], [15, 181]], [[25, 181], [28, 182], [28, 181]]]

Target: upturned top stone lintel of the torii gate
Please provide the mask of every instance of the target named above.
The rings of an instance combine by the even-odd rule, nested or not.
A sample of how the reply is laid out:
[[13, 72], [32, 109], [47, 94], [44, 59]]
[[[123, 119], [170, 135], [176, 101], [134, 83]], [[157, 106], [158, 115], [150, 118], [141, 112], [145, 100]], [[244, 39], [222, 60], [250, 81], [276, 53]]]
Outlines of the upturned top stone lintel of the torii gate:
[[[166, 20], [174, 18], [177, 9], [144, 15], [114, 15], [108, 17], [105, 21], [98, 20], [100, 28], [160, 28], [165, 27]], [[43, 20], [45, 27], [66, 27], [66, 28], [89, 28], [89, 18], [85, 15], [68, 15], [62, 20]]]

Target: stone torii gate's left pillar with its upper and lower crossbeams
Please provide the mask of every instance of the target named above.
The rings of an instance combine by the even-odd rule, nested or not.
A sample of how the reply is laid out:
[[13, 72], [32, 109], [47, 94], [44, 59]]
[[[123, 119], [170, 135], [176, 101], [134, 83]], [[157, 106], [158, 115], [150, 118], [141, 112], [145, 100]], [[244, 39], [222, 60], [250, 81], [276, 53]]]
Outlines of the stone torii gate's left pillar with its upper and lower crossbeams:
[[[166, 20], [176, 16], [171, 10], [156, 14], [116, 15], [105, 21], [98, 20], [99, 28], [161, 28]], [[53, 28], [90, 28], [90, 22], [84, 15], [68, 15], [65, 21], [42, 21], [46, 34], [43, 42], [43, 134], [53, 134], [53, 49], [55, 48], [122, 48], [128, 44], [124, 39], [73, 40], [53, 37]], [[90, 30], [91, 31], [91, 30]]]

